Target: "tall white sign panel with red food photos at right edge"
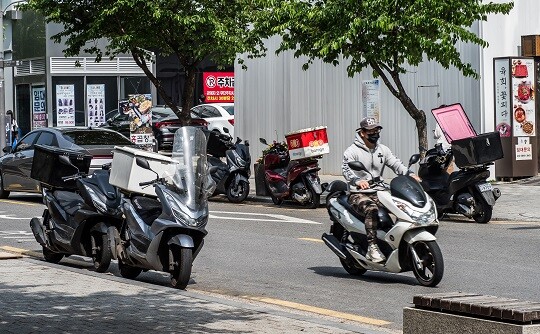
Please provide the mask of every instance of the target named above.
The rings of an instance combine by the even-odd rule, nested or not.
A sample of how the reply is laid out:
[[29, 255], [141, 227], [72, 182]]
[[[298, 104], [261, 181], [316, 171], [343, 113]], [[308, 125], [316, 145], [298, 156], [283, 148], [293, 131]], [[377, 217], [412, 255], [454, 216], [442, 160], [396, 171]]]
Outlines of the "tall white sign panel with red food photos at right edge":
[[534, 59], [512, 59], [514, 137], [536, 136]]

